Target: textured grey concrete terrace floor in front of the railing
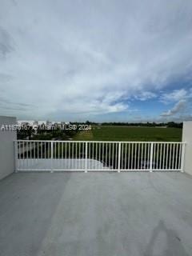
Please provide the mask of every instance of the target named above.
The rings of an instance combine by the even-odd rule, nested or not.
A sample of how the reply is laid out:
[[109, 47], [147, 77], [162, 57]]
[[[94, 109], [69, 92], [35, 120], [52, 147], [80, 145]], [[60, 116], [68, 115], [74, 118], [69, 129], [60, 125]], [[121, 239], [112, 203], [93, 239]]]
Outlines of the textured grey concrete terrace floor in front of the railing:
[[18, 173], [0, 181], [0, 254], [192, 255], [192, 178]]

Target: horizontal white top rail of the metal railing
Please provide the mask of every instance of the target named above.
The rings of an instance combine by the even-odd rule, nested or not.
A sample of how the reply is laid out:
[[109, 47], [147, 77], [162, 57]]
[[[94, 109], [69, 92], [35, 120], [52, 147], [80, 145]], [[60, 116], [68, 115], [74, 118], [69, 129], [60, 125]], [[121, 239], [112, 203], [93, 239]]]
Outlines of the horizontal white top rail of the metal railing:
[[90, 143], [166, 143], [166, 144], [186, 144], [186, 142], [149, 142], [149, 141], [145, 141], [145, 142], [134, 142], [134, 141], [51, 141], [51, 140], [24, 140], [24, 139], [18, 139], [18, 140], [14, 140], [14, 142], [69, 142], [69, 143], [73, 143], [73, 142], [90, 142]]

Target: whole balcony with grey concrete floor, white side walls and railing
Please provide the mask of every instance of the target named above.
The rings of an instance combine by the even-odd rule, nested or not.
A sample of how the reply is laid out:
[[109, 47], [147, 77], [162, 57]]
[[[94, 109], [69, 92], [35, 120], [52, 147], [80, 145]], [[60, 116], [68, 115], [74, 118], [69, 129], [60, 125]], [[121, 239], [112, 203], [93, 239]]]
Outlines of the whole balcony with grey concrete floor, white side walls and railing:
[[191, 126], [182, 142], [0, 133], [1, 256], [190, 256]]

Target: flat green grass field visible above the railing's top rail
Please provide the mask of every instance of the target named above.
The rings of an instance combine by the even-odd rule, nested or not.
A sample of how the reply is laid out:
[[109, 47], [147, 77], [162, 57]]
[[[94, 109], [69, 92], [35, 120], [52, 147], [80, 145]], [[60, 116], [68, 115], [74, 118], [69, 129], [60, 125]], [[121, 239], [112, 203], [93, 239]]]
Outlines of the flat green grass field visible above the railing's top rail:
[[74, 140], [82, 141], [153, 141], [181, 142], [182, 129], [130, 126], [92, 126], [92, 130], [79, 132]]

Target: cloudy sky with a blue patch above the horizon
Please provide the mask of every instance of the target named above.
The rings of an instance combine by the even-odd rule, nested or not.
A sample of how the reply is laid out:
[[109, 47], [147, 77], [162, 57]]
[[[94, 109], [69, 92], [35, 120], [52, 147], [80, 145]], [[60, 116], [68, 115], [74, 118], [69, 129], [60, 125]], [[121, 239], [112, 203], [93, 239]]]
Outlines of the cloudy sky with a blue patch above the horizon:
[[191, 0], [0, 0], [0, 115], [192, 119]]

